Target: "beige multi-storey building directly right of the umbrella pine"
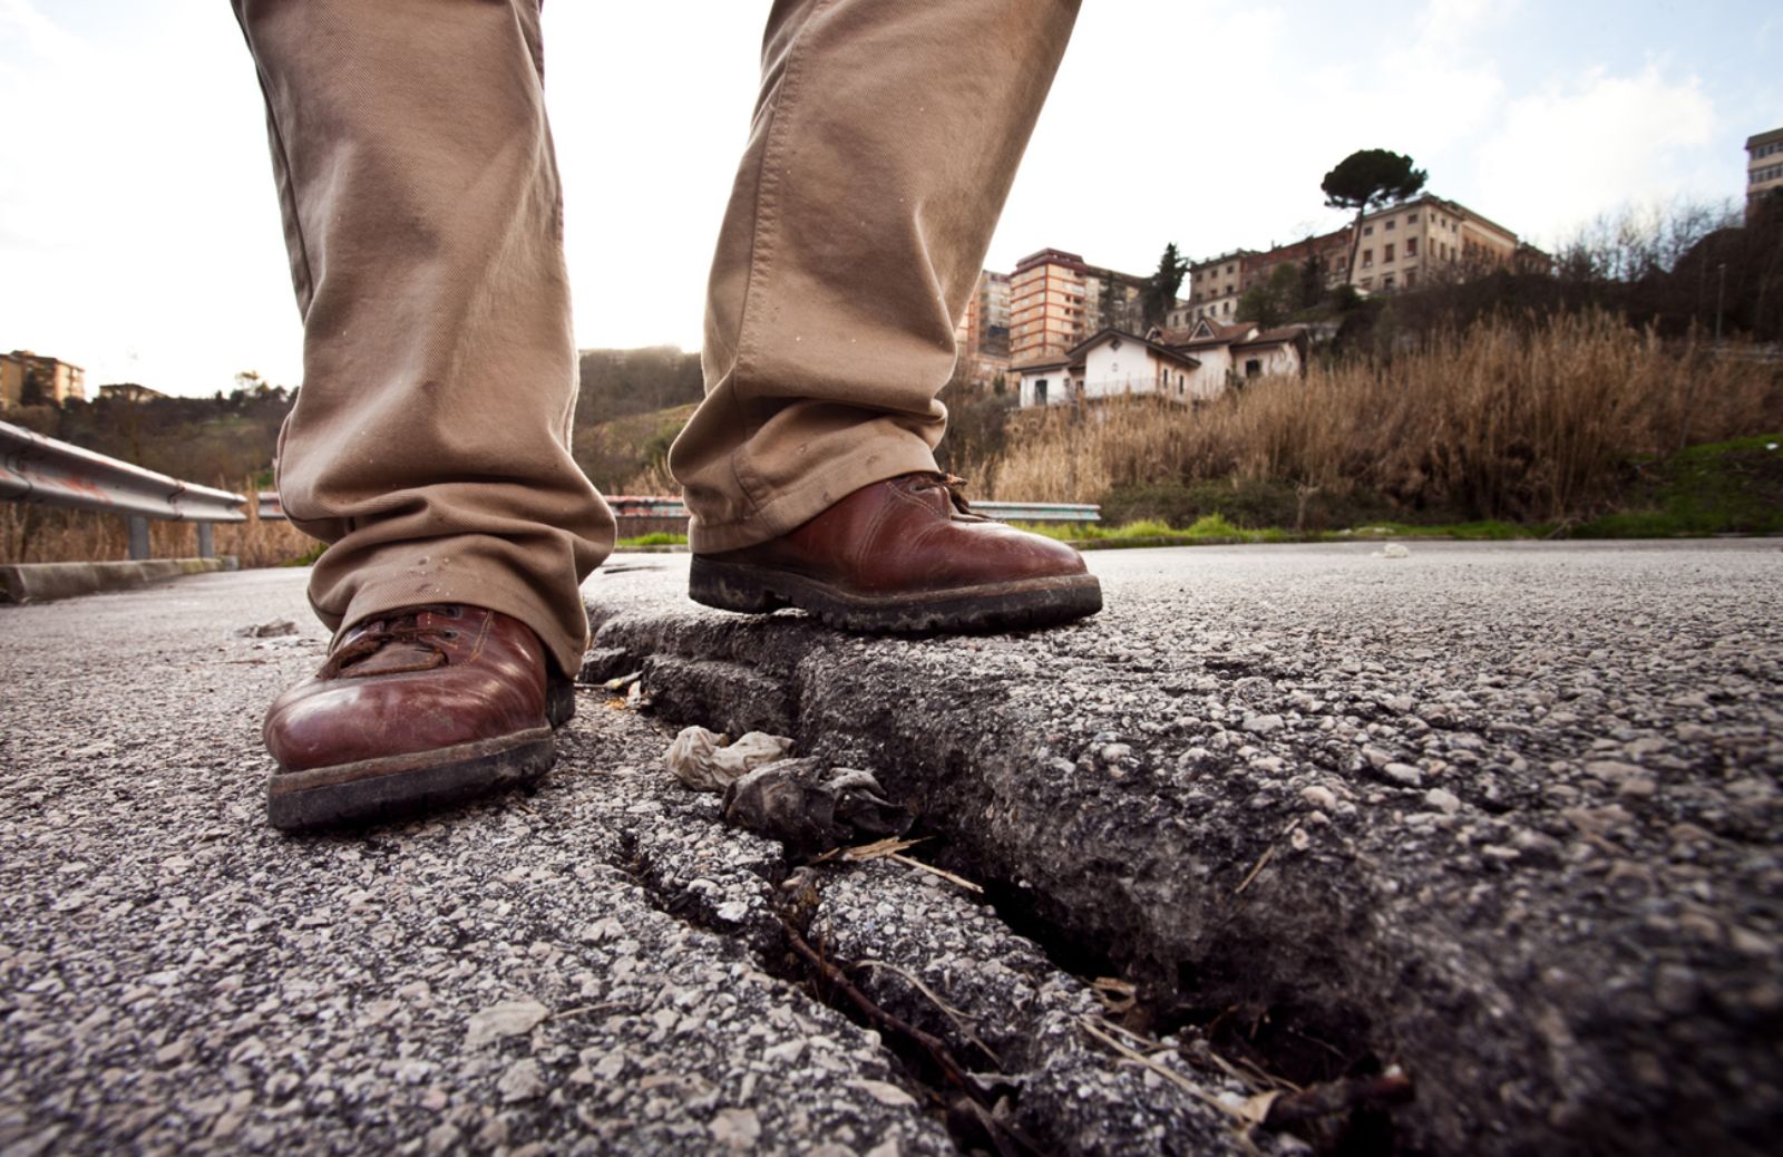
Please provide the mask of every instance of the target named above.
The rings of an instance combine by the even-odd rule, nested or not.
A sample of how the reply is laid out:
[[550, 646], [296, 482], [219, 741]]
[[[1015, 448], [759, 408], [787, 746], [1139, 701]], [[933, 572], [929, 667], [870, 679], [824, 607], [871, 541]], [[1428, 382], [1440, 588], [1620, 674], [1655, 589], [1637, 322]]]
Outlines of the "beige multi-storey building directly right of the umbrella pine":
[[1419, 196], [1362, 217], [1350, 283], [1362, 292], [1417, 289], [1517, 266], [1517, 235], [1466, 205]]

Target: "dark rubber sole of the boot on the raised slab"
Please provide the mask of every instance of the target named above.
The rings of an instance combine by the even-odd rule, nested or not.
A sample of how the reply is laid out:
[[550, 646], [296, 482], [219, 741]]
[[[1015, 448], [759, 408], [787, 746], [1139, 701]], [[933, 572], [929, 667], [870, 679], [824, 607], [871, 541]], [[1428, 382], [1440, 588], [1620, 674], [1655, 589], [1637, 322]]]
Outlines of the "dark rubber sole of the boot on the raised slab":
[[706, 606], [765, 615], [786, 606], [843, 631], [922, 635], [1016, 631], [1095, 615], [1102, 583], [1093, 574], [1011, 579], [920, 594], [856, 594], [790, 570], [694, 556], [688, 597]]

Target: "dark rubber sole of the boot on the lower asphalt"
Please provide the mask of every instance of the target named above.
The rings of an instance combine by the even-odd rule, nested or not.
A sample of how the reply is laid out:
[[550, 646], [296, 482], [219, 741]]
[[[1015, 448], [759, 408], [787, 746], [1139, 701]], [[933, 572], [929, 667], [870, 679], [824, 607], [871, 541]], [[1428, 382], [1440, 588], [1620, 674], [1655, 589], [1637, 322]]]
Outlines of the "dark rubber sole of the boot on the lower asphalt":
[[576, 688], [555, 677], [549, 726], [403, 756], [275, 772], [266, 816], [280, 831], [376, 824], [535, 783], [556, 761], [556, 729], [576, 713]]

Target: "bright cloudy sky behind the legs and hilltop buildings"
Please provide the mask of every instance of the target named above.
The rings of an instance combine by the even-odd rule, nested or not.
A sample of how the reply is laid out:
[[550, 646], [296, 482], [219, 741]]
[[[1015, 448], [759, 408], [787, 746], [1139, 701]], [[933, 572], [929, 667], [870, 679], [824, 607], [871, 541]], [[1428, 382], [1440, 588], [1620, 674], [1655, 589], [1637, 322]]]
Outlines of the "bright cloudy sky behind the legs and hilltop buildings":
[[[578, 344], [697, 344], [767, 7], [546, 5]], [[1088, 0], [988, 264], [1148, 273], [1166, 241], [1334, 228], [1319, 178], [1357, 148], [1551, 246], [1628, 203], [1742, 196], [1779, 59], [1774, 0]], [[301, 380], [226, 0], [0, 0], [0, 349], [84, 365], [89, 392]]]

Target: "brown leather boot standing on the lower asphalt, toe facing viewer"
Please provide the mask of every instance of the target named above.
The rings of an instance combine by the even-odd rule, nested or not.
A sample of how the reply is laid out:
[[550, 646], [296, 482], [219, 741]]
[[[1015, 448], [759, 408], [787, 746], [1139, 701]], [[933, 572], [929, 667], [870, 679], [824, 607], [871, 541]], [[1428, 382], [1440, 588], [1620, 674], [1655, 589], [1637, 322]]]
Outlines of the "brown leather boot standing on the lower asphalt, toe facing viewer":
[[537, 779], [574, 711], [519, 619], [458, 604], [367, 619], [266, 713], [267, 818], [383, 820]]

